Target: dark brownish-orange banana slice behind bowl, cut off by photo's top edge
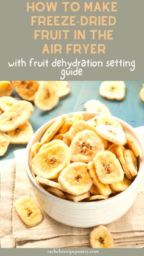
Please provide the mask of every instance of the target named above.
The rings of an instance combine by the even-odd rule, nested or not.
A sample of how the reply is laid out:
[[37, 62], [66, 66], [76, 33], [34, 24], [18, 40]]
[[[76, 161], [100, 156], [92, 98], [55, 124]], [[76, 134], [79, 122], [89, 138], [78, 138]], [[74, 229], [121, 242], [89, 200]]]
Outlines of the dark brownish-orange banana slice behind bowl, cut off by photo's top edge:
[[38, 90], [38, 81], [12, 81], [16, 92], [23, 100], [34, 101]]

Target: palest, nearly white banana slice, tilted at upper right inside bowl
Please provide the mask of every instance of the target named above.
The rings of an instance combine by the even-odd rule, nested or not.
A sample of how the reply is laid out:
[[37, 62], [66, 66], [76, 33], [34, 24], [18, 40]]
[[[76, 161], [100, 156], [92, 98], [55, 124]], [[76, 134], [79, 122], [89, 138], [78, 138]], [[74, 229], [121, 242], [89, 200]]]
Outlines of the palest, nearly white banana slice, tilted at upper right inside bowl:
[[117, 145], [126, 144], [126, 134], [120, 128], [117, 128], [113, 125], [97, 125], [96, 126], [97, 133], [107, 139], [107, 141], [111, 141]]

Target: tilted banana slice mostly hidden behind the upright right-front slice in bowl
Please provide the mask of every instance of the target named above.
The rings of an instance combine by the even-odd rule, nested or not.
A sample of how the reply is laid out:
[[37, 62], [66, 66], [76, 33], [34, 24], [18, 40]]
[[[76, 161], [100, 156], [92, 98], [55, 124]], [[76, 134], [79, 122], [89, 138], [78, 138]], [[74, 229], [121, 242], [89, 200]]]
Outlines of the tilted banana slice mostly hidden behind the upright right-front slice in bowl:
[[[96, 174], [95, 165], [93, 164], [93, 162], [88, 163], [88, 170], [90, 178], [92, 178], [92, 181], [96, 186], [96, 188], [95, 186], [92, 186], [92, 188], [90, 188], [90, 193], [94, 195], [101, 194], [103, 196], [109, 196], [112, 192], [110, 186], [108, 184], [103, 184], [101, 183], [101, 181], [99, 181], [98, 175]], [[96, 191], [96, 189], [98, 190], [98, 192]]]

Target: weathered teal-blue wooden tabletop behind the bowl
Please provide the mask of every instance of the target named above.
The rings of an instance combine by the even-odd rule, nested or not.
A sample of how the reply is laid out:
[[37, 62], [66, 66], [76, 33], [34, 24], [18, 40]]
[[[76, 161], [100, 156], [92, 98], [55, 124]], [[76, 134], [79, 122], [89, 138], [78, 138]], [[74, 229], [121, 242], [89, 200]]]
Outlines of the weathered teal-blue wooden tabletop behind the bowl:
[[[43, 123], [48, 122], [58, 115], [73, 111], [83, 111], [87, 100], [98, 99], [108, 106], [112, 115], [123, 119], [131, 126], [144, 125], [144, 103], [140, 100], [139, 93], [144, 81], [126, 81], [126, 97], [123, 101], [110, 101], [101, 98], [99, 85], [101, 81], [69, 81], [71, 93], [60, 98], [59, 104], [51, 111], [34, 109], [30, 122], [36, 131]], [[15, 95], [18, 98], [17, 95]], [[20, 98], [19, 98], [20, 99]], [[26, 145], [10, 145], [1, 160], [13, 158], [13, 150], [24, 148]]]

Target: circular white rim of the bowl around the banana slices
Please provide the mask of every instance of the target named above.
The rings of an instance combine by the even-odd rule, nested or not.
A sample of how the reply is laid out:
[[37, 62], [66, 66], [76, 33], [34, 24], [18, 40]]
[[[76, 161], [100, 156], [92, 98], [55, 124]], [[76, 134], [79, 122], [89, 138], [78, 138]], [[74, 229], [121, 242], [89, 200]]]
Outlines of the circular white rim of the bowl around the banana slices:
[[[70, 116], [70, 115], [73, 115], [73, 114], [84, 114], [84, 115], [87, 114], [87, 115], [93, 115], [93, 117], [94, 117], [95, 115], [100, 115], [100, 114], [103, 114], [103, 113], [88, 112], [88, 111], [75, 111], [75, 112], [70, 112], [70, 113], [59, 115], [58, 117]], [[134, 134], [134, 136], [136, 137], [136, 139], [139, 142], [139, 145], [141, 147], [142, 155], [144, 155], [144, 147], [143, 147], [142, 141], [140, 140], [139, 136], [137, 136], [137, 133], [135, 132], [134, 128], [131, 125], [129, 125], [127, 122], [125, 122], [124, 120], [122, 120], [118, 117], [115, 117], [114, 115], [110, 115], [110, 116], [114, 117], [116, 120], [118, 120], [118, 122], [122, 123], [122, 125], [126, 126], [126, 128], [128, 128], [128, 130], [130, 130], [132, 134]], [[35, 131], [35, 133], [31, 137], [31, 139], [30, 139], [30, 141], [29, 141], [29, 143], [27, 144], [27, 147], [26, 147], [26, 155], [25, 155], [24, 162], [25, 162], [25, 166], [26, 166], [27, 177], [29, 178], [29, 181], [31, 182], [31, 184], [40, 193], [42, 193], [46, 197], [49, 196], [49, 197], [51, 197], [51, 199], [55, 199], [58, 202], [67, 203], [69, 205], [77, 205], [77, 206], [93, 205], [93, 206], [95, 206], [95, 205], [101, 205], [101, 203], [104, 205], [104, 204], [109, 203], [112, 200], [118, 199], [119, 197], [121, 197], [121, 195], [124, 196], [124, 194], [127, 194], [128, 191], [130, 191], [132, 188], [134, 188], [134, 186], [138, 185], [142, 181], [142, 178], [144, 177], [144, 172], [140, 172], [140, 173], [138, 172], [137, 177], [135, 177], [134, 181], [132, 181], [131, 185], [126, 190], [121, 191], [117, 195], [109, 197], [108, 199], [93, 201], [93, 202], [73, 202], [73, 201], [70, 201], [70, 200], [61, 199], [60, 197], [54, 196], [51, 193], [49, 193], [48, 191], [46, 191], [43, 188], [42, 185], [40, 185], [40, 184], [38, 185], [37, 182], [34, 180], [34, 176], [32, 175], [31, 169], [29, 167], [29, 153], [30, 153], [30, 150], [31, 150], [31, 143], [34, 140], [34, 137], [37, 137], [37, 134], [41, 130], [43, 130], [43, 128], [45, 128], [45, 127], [48, 128], [49, 123], [53, 123], [58, 117], [54, 117], [54, 119], [51, 119], [48, 122], [44, 123], [42, 126], [40, 126], [40, 128], [38, 128], [38, 130]], [[141, 163], [141, 169], [143, 169], [143, 168], [144, 168], [144, 158], [143, 158], [142, 163]]]

